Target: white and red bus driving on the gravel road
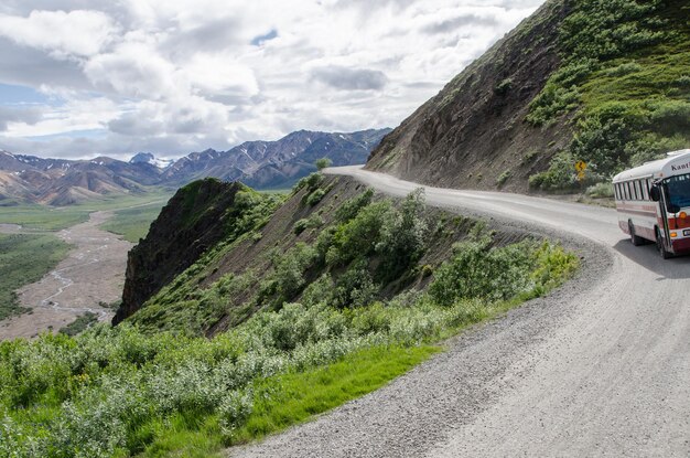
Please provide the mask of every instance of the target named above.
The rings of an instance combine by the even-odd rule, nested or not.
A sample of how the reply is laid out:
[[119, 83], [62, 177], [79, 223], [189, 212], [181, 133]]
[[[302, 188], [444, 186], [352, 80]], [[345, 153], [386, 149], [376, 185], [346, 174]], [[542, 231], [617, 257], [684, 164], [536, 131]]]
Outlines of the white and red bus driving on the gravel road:
[[655, 243], [664, 259], [690, 253], [690, 149], [621, 172], [613, 188], [633, 245]]

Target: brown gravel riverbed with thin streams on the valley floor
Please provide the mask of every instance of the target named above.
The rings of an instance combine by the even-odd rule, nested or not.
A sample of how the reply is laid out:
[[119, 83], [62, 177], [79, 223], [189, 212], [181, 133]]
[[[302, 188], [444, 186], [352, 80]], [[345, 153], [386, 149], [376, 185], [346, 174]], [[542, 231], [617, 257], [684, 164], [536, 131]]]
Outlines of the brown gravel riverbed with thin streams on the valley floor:
[[[120, 298], [125, 284], [127, 252], [132, 244], [98, 228], [111, 212], [95, 212], [89, 221], [63, 230], [57, 236], [75, 245], [69, 256], [41, 280], [19, 290], [22, 306], [33, 309], [0, 321], [0, 340], [33, 337], [52, 327], [55, 331], [85, 311], [110, 319], [112, 311], [98, 307]], [[6, 227], [18, 232], [21, 227]]]

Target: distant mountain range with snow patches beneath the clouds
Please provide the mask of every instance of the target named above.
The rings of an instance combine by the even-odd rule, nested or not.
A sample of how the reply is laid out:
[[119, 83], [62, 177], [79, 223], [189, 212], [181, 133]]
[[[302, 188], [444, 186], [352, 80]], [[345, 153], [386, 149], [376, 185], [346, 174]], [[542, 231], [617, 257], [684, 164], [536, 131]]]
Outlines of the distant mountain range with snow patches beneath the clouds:
[[300, 130], [277, 141], [247, 141], [227, 151], [207, 149], [177, 160], [139, 152], [128, 162], [44, 159], [0, 150], [0, 205], [69, 205], [104, 195], [144, 192], [147, 187], [177, 188], [214, 177], [257, 189], [288, 188], [328, 158], [334, 166], [364, 163], [390, 129], [357, 132]]

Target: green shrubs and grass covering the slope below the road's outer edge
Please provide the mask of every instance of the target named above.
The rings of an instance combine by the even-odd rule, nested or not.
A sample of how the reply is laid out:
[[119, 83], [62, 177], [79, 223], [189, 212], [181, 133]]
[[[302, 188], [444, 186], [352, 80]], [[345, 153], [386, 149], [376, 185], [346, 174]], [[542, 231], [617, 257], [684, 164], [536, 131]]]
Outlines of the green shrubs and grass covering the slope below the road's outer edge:
[[[308, 216], [260, 269], [200, 286], [233, 249], [266, 242], [257, 234], [276, 198], [248, 193], [231, 242], [123, 323], [1, 342], [0, 456], [209, 456], [382, 386], [444, 338], [578, 267], [545, 241], [502, 244], [484, 223], [430, 219], [421, 191], [342, 201], [334, 182], [312, 175], [297, 187], [285, 205]], [[317, 190], [325, 198], [313, 207]], [[445, 260], [421, 264], [461, 231]], [[204, 335], [228, 318], [227, 331]]]

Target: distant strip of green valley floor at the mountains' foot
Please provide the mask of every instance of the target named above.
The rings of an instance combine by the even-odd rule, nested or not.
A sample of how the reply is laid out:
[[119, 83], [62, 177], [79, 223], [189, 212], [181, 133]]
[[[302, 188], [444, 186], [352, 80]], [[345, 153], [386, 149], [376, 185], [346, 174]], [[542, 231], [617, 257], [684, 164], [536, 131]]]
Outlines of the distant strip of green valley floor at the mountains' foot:
[[0, 206], [0, 222], [36, 230], [60, 231], [88, 221], [88, 215], [93, 212], [117, 211], [134, 205], [152, 204], [155, 201], [166, 200], [169, 196], [169, 191], [153, 189], [145, 194], [109, 196], [100, 201], [68, 206], [37, 204]]

